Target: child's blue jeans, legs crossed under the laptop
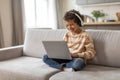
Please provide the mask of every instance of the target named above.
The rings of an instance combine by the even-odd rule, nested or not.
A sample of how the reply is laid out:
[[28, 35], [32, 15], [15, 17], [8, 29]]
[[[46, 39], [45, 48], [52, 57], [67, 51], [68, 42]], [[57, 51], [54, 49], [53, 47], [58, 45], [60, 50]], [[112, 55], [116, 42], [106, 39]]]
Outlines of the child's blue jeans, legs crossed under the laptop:
[[66, 68], [73, 68], [75, 71], [80, 71], [85, 67], [85, 61], [82, 58], [73, 58], [72, 60], [64, 60], [64, 59], [52, 59], [48, 58], [47, 55], [44, 55], [43, 61], [49, 66], [61, 69], [63, 64], [65, 64]]

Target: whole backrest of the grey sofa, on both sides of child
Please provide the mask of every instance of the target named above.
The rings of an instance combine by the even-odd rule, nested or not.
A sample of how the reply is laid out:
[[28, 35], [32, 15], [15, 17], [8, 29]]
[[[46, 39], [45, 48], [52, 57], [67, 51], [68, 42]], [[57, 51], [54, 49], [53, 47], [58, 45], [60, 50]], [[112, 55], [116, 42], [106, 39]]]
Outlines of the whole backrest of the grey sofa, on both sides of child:
[[[92, 63], [120, 67], [120, 31], [116, 30], [86, 30], [93, 38], [96, 57]], [[25, 36], [24, 55], [42, 57], [44, 50], [43, 40], [63, 40], [65, 29], [46, 30], [28, 29]]]

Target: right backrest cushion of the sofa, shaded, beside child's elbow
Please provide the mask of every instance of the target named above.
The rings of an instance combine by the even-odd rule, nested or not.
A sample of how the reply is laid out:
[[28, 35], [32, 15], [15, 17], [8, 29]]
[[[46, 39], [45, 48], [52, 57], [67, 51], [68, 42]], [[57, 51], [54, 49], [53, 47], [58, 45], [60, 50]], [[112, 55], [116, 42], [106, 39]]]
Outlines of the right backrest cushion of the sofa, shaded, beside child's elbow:
[[119, 30], [87, 30], [94, 40], [95, 64], [120, 67], [120, 31]]

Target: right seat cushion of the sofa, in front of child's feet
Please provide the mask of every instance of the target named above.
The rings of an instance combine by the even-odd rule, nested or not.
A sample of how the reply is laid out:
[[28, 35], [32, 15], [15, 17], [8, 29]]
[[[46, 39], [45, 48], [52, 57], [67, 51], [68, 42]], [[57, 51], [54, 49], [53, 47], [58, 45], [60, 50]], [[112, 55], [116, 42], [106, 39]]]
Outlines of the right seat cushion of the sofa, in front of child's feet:
[[88, 65], [78, 72], [60, 72], [49, 80], [120, 80], [120, 68]]

